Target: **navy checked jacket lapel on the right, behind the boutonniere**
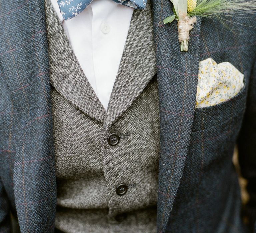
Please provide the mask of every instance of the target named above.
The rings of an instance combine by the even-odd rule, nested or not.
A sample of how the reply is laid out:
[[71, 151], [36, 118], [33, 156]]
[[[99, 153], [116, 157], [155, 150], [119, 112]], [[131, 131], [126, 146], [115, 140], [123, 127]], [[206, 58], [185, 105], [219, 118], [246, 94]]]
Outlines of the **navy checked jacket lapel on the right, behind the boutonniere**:
[[169, 0], [153, 1], [160, 107], [158, 232], [165, 232], [186, 161], [196, 100], [201, 18], [191, 31], [189, 51], [180, 52], [177, 22]]

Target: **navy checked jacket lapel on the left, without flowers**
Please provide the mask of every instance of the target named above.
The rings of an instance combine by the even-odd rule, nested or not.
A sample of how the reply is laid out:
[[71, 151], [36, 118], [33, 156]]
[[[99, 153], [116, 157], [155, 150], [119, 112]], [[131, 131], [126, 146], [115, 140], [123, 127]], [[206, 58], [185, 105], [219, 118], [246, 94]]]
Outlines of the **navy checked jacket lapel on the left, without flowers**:
[[[12, 109], [8, 142], [21, 232], [53, 232], [56, 209], [48, 48], [42, 0], [5, 1], [0, 12], [0, 65]], [[8, 9], [8, 10], [7, 10]], [[6, 10], [8, 13], [6, 13]], [[1, 108], [4, 107], [1, 105]], [[1, 111], [4, 111], [2, 109]], [[1, 116], [3, 117], [3, 116]]]

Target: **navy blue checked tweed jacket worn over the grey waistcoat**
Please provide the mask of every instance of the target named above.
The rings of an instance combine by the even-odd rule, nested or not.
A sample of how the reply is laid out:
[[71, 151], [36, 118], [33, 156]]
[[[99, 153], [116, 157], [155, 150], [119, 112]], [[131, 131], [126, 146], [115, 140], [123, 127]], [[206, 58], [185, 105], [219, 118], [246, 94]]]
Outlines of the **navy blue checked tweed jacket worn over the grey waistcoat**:
[[[256, 17], [228, 18], [231, 30], [198, 17], [189, 51], [179, 52], [169, 0], [152, 1], [160, 107], [158, 232], [245, 232], [236, 142], [249, 180], [256, 180]], [[248, 25], [242, 26], [243, 25]], [[44, 0], [0, 0], [0, 231], [10, 212], [21, 232], [53, 232], [56, 175]], [[245, 86], [229, 101], [195, 109], [199, 61], [230, 62]], [[252, 214], [253, 215], [253, 214]]]

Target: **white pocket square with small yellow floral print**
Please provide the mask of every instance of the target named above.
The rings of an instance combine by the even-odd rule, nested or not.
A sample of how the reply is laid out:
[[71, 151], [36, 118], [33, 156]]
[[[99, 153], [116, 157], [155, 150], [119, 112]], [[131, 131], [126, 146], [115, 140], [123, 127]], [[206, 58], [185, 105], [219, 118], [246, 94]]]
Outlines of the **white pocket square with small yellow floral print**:
[[244, 86], [244, 75], [231, 63], [217, 64], [208, 58], [199, 63], [196, 108], [217, 105], [238, 94]]

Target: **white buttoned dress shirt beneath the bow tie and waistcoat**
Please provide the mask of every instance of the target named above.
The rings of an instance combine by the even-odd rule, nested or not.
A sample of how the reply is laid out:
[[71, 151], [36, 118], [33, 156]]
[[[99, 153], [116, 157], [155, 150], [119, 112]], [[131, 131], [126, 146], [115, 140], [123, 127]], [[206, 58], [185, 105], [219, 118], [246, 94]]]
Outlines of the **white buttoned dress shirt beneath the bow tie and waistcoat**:
[[57, 0], [51, 2], [86, 78], [107, 109], [133, 8], [112, 0], [94, 0], [79, 15], [65, 21]]

